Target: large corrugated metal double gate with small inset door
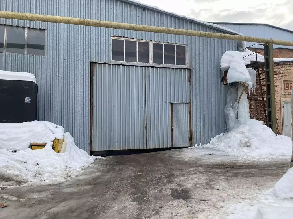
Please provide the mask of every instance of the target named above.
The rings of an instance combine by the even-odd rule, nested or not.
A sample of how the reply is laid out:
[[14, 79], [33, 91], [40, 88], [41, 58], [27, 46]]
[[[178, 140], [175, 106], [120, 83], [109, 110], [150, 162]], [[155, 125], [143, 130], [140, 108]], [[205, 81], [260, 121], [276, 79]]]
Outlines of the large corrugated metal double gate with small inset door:
[[94, 64], [92, 149], [190, 146], [190, 70]]

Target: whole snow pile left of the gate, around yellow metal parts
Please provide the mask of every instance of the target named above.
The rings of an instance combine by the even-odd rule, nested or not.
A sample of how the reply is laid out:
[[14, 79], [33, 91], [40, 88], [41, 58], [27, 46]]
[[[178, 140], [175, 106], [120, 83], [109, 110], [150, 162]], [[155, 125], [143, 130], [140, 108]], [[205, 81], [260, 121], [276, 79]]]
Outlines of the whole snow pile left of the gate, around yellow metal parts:
[[[61, 126], [50, 122], [0, 124], [0, 130], [0, 178], [4, 179], [0, 185], [11, 180], [26, 185], [61, 183], [95, 160], [76, 147], [70, 133], [64, 133]], [[63, 135], [62, 150], [65, 152], [56, 153], [52, 149], [52, 140]], [[47, 145], [44, 149], [31, 150], [27, 148], [30, 140]], [[18, 151], [13, 153], [6, 149]]]

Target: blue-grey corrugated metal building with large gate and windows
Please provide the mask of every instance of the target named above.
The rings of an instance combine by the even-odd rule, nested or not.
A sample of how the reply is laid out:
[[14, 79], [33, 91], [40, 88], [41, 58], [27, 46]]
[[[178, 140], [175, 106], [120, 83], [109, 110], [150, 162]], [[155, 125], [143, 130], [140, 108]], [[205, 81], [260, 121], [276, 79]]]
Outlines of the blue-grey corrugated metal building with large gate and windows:
[[[234, 34], [127, 0], [3, 0], [0, 10]], [[0, 24], [0, 69], [33, 73], [38, 119], [63, 126], [87, 152], [90, 140], [93, 151], [182, 147], [224, 131], [220, 59], [235, 41]]]

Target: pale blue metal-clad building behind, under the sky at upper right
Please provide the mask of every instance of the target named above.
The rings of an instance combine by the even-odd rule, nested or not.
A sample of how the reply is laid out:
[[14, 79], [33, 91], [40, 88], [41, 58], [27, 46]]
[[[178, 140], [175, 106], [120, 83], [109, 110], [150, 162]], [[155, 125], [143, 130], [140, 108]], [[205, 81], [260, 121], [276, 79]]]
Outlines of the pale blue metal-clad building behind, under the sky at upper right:
[[[243, 34], [244, 36], [254, 36], [267, 39], [278, 39], [285, 41], [293, 41], [293, 31], [284, 29], [282, 27], [273, 26], [270, 24], [258, 24], [258, 23], [234, 23], [234, 22], [213, 22], [222, 27], [229, 28], [236, 32]], [[246, 42], [246, 46], [251, 46], [255, 43]], [[291, 46], [279, 46], [273, 45], [273, 48], [291, 48]], [[259, 46], [259, 48], [263, 48]]]

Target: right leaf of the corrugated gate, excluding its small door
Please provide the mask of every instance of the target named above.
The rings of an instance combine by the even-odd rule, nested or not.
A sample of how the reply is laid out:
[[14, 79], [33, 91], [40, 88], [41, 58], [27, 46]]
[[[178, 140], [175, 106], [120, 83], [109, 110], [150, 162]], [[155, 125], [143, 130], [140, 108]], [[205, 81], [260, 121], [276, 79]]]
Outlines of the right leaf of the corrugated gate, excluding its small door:
[[190, 70], [146, 68], [147, 146], [171, 147], [172, 102], [190, 102]]

